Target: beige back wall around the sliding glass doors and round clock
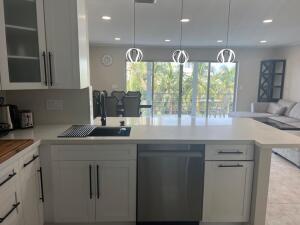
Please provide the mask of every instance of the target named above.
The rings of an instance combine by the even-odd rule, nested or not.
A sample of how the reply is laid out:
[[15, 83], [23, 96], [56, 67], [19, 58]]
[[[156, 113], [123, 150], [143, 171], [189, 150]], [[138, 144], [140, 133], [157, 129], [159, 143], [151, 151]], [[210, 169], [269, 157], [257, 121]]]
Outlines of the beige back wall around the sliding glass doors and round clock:
[[[171, 60], [174, 49], [147, 47], [144, 51], [144, 60]], [[217, 48], [188, 49], [191, 60], [215, 61]], [[239, 80], [237, 95], [237, 110], [250, 110], [250, 103], [256, 101], [258, 92], [258, 79], [260, 61], [273, 58], [271, 48], [238, 48], [236, 50], [239, 63]], [[93, 89], [108, 90], [126, 89], [125, 47], [91, 46], [91, 85]], [[109, 54], [113, 58], [111, 66], [101, 63], [102, 57]]]

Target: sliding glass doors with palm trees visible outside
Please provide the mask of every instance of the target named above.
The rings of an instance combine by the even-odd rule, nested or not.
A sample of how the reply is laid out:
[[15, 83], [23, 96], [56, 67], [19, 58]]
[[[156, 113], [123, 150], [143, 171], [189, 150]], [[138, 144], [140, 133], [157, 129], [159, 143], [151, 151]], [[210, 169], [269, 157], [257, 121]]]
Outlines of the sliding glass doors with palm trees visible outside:
[[140, 91], [154, 116], [227, 117], [234, 107], [235, 63], [128, 62], [126, 74], [127, 91]]

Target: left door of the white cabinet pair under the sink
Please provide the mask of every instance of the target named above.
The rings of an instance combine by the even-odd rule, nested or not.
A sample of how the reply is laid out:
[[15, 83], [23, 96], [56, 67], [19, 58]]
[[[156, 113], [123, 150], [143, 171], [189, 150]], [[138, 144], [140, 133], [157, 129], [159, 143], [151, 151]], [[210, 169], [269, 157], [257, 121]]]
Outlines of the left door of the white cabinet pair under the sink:
[[95, 215], [93, 163], [54, 161], [54, 222], [91, 222]]

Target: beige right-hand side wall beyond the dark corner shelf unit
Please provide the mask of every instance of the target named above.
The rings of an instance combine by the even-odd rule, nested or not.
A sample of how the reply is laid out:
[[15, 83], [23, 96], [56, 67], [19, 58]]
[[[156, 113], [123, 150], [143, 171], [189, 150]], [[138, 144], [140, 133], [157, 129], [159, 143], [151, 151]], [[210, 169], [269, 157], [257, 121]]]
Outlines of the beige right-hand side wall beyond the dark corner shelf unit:
[[300, 102], [300, 46], [278, 48], [275, 54], [287, 60], [283, 98]]

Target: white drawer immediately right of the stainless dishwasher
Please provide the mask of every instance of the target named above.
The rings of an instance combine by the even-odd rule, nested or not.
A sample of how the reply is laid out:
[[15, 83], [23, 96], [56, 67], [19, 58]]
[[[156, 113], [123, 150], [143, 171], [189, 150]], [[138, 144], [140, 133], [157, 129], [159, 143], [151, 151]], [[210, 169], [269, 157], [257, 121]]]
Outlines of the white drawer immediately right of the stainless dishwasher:
[[253, 145], [206, 145], [205, 160], [253, 160]]

